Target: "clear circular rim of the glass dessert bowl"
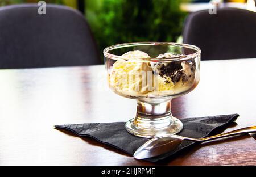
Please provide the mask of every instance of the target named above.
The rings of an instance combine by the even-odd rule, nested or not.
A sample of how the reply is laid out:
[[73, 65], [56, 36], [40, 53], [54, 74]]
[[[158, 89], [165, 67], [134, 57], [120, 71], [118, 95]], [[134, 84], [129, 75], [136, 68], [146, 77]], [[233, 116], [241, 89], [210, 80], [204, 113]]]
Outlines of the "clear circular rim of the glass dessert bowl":
[[[187, 47], [190, 49], [196, 50], [195, 53], [192, 54], [185, 54], [183, 56], [177, 56], [177, 57], [168, 57], [168, 58], [126, 58], [122, 56], [118, 56], [115, 54], [109, 53], [109, 51], [119, 48], [125, 48], [125, 47], [133, 47], [133, 46], [139, 46], [139, 45], [172, 45], [177, 47]], [[199, 47], [196, 47], [195, 45], [190, 44], [183, 44], [183, 43], [173, 43], [173, 42], [138, 42], [138, 43], [122, 43], [122, 44], [116, 44], [111, 45], [103, 50], [104, 56], [108, 57], [113, 60], [136, 60], [136, 61], [142, 61], [142, 62], [160, 62], [160, 61], [180, 61], [180, 60], [188, 60], [191, 58], [195, 58], [200, 56], [201, 50]]]

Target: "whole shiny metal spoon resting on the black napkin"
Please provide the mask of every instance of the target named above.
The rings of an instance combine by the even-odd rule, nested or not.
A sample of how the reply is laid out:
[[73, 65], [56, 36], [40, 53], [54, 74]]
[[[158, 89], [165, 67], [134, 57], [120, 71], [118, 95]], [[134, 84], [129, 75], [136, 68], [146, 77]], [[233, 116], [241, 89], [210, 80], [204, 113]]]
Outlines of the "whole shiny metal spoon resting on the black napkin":
[[188, 137], [182, 137], [179, 135], [152, 138], [151, 140], [143, 144], [141, 147], [139, 147], [139, 149], [135, 151], [133, 157], [136, 159], [146, 159], [146, 158], [156, 157], [158, 155], [170, 153], [171, 151], [175, 151], [181, 145], [183, 140], [204, 142], [209, 140], [216, 140], [218, 138], [234, 136], [237, 134], [254, 133], [254, 132], [256, 132], [256, 126], [241, 128], [241, 129], [233, 130], [231, 132], [210, 136], [207, 138], [188, 138]]

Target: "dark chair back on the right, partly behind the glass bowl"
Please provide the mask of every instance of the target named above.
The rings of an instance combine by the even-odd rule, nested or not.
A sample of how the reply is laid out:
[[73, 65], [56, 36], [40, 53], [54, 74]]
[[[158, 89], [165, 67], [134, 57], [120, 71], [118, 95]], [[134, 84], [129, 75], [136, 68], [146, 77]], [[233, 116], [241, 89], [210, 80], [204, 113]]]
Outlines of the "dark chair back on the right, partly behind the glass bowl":
[[201, 60], [256, 58], [256, 13], [222, 8], [190, 14], [183, 28], [183, 43], [202, 50]]

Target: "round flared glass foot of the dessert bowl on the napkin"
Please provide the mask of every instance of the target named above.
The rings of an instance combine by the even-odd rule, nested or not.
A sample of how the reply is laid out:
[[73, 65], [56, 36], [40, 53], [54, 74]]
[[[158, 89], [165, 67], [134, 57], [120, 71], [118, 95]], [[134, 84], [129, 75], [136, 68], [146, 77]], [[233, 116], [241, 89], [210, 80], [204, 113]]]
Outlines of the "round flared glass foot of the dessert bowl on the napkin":
[[143, 138], [155, 138], [179, 133], [180, 130], [183, 129], [183, 123], [179, 119], [173, 117], [172, 123], [167, 127], [159, 129], [143, 129], [135, 125], [134, 119], [131, 119], [126, 122], [125, 128], [129, 133], [135, 136]]

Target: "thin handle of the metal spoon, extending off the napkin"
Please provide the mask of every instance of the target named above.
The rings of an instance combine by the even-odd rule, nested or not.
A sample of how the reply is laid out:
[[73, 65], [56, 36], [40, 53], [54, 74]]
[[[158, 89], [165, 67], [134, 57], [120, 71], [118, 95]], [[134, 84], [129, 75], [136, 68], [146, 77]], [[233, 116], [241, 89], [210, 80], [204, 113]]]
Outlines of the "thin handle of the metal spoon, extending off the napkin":
[[207, 137], [207, 138], [200, 138], [198, 140], [203, 142], [203, 141], [215, 140], [215, 139], [218, 139], [218, 138], [234, 136], [234, 135], [237, 135], [237, 134], [253, 133], [253, 132], [256, 132], [256, 126], [241, 128], [241, 129], [233, 130], [231, 132], [221, 133], [221, 134], [217, 134], [217, 135], [214, 135], [214, 136], [210, 136], [210, 137]]

